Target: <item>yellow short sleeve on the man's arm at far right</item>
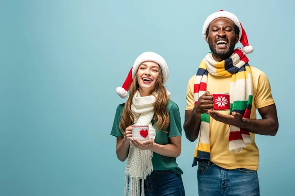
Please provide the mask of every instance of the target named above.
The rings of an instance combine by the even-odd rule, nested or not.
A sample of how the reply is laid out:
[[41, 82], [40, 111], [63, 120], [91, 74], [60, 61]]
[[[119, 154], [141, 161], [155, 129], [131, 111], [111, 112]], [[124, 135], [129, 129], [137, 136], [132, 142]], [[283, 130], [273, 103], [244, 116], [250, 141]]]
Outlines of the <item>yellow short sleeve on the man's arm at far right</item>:
[[254, 101], [257, 109], [274, 104], [270, 83], [265, 73], [261, 73], [258, 78], [257, 93]]

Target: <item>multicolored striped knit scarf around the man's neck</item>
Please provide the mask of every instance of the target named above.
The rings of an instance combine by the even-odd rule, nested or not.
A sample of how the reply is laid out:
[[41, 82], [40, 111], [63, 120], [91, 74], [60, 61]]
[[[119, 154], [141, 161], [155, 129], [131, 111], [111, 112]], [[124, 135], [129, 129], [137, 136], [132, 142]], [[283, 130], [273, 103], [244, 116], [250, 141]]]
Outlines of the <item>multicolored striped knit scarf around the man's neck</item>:
[[[250, 118], [253, 100], [252, 74], [248, 64], [248, 58], [240, 48], [227, 59], [217, 62], [213, 59], [212, 53], [208, 53], [202, 60], [195, 77], [194, 101], [195, 105], [199, 97], [207, 91], [208, 73], [216, 76], [232, 76], [230, 83], [230, 115], [232, 112], [241, 114], [243, 118]], [[208, 114], [201, 115], [201, 125], [197, 145], [194, 154], [192, 167], [197, 161], [210, 161], [210, 120]], [[251, 137], [248, 131], [234, 125], [229, 125], [229, 150], [240, 152], [242, 148], [251, 144]]]

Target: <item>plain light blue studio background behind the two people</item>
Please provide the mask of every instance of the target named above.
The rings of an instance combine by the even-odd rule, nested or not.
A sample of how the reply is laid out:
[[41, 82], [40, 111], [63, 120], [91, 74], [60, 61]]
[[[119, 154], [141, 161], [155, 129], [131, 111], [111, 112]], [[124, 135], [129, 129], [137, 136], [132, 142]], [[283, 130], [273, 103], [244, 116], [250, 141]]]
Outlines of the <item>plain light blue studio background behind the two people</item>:
[[[1, 0], [0, 196], [122, 195], [125, 163], [110, 136], [124, 101], [116, 88], [139, 54], [161, 54], [183, 124], [187, 81], [209, 51], [203, 23], [220, 9], [244, 26], [250, 64], [268, 75], [278, 109], [278, 134], [256, 138], [261, 195], [291, 195], [294, 7], [291, 0]], [[194, 147], [183, 137], [177, 158], [187, 196], [197, 196]]]

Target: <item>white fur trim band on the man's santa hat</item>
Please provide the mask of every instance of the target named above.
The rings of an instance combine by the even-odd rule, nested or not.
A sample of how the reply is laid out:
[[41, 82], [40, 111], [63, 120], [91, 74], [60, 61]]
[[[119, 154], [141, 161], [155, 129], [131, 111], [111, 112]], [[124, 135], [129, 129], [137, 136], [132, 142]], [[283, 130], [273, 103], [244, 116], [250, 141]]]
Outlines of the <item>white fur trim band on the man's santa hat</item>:
[[224, 17], [224, 18], [228, 18], [230, 19], [231, 21], [233, 21], [235, 23], [235, 25], [238, 26], [240, 32], [239, 32], [239, 36], [238, 36], [238, 41], [241, 39], [241, 36], [242, 36], [242, 27], [239, 23], [239, 20], [238, 18], [236, 17], [235, 14], [231, 13], [231, 12], [227, 12], [227, 11], [218, 11], [218, 12], [215, 12], [213, 14], [211, 14], [210, 16], [207, 17], [204, 25], [203, 25], [203, 37], [205, 38], [206, 40], [206, 31], [207, 31], [207, 28], [208, 26], [210, 25], [210, 23], [212, 21], [214, 21], [215, 19], [217, 18], [221, 18], [221, 17]]

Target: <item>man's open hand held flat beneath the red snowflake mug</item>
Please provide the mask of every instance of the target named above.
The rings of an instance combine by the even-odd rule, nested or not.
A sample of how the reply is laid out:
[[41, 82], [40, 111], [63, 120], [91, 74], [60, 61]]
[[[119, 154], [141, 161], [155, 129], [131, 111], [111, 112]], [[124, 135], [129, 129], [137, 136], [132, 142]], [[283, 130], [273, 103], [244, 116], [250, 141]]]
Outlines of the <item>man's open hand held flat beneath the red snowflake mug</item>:
[[237, 127], [240, 127], [242, 124], [242, 115], [237, 112], [233, 112], [232, 115], [223, 115], [215, 110], [208, 111], [210, 117], [225, 124], [231, 124]]

